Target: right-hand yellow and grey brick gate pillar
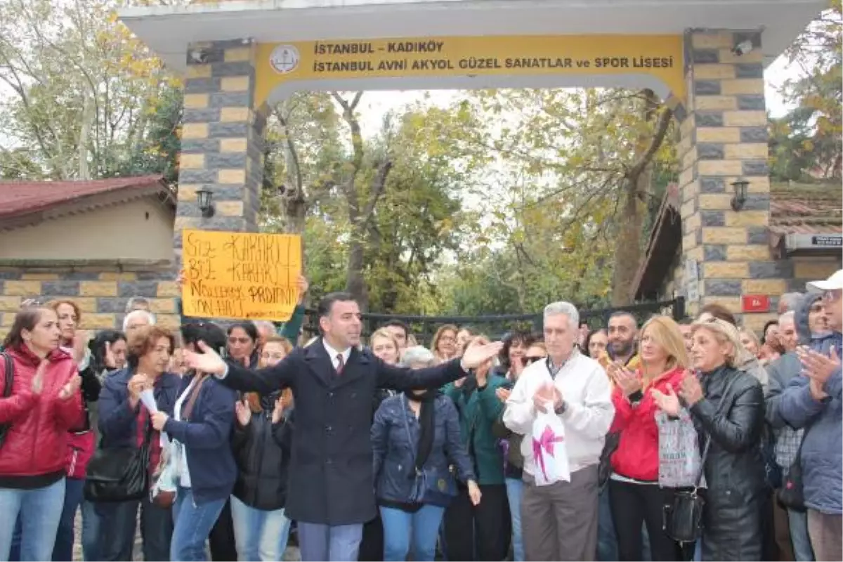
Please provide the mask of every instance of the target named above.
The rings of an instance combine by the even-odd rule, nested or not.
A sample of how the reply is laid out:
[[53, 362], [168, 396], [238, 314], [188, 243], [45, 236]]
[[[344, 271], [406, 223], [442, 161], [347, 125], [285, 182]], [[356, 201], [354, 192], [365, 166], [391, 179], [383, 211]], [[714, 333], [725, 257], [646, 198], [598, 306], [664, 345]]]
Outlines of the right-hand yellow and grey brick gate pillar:
[[[750, 40], [754, 50], [732, 53]], [[694, 30], [685, 34], [688, 104], [680, 125], [682, 258], [700, 264], [700, 304], [720, 302], [741, 312], [741, 296], [784, 292], [781, 266], [771, 258], [770, 178], [764, 67], [759, 33]], [[736, 179], [749, 181], [748, 201], [731, 206]], [[683, 284], [685, 286], [685, 284]], [[689, 313], [698, 311], [691, 303]], [[744, 318], [751, 328], [766, 316]], [[759, 326], [760, 327], [760, 326]]]

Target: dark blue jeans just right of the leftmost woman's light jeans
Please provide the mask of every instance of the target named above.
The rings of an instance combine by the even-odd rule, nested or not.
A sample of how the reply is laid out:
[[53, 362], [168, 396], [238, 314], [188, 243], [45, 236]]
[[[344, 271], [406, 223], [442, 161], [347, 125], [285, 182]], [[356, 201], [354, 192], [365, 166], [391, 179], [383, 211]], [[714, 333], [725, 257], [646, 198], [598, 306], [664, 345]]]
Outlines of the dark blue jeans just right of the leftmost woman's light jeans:
[[87, 562], [97, 560], [97, 531], [99, 517], [94, 511], [94, 506], [84, 500], [83, 489], [84, 479], [68, 478], [65, 484], [64, 509], [62, 518], [58, 523], [56, 533], [56, 546], [53, 548], [52, 562], [72, 562], [74, 526], [76, 523], [76, 511], [82, 507], [82, 550]]

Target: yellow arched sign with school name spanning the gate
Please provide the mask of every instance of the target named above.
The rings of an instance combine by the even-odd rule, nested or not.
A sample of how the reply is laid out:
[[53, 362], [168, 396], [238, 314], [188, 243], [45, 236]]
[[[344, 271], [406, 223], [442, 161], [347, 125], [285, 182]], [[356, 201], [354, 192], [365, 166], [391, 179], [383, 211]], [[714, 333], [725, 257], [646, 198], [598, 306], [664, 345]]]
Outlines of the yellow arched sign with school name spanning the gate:
[[634, 75], [685, 101], [681, 35], [524, 35], [300, 41], [257, 45], [255, 104], [282, 84], [359, 78]]

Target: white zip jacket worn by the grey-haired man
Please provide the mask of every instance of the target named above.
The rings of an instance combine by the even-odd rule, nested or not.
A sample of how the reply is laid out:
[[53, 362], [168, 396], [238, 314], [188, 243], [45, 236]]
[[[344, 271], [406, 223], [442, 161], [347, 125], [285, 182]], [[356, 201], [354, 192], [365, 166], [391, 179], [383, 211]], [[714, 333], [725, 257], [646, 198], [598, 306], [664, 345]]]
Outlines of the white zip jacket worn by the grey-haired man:
[[[525, 368], [507, 400], [504, 425], [515, 433], [532, 435], [536, 416], [533, 396], [550, 380], [546, 360], [536, 361]], [[565, 426], [571, 472], [598, 464], [606, 433], [615, 418], [609, 377], [597, 361], [574, 349], [552, 380], [567, 404], [565, 413], [560, 417]], [[521, 442], [521, 453], [524, 455], [524, 471], [535, 474], [532, 439]]]

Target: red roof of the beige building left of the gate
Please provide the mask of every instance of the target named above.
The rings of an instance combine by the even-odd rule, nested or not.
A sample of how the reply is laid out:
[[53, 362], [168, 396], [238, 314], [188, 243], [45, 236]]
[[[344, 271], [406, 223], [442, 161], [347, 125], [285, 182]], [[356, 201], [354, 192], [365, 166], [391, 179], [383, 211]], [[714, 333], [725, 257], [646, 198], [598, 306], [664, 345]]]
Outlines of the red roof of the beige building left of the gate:
[[78, 203], [96, 195], [126, 190], [166, 189], [159, 175], [90, 181], [0, 181], [0, 220], [53, 210], [66, 203]]

